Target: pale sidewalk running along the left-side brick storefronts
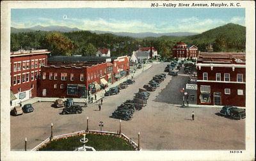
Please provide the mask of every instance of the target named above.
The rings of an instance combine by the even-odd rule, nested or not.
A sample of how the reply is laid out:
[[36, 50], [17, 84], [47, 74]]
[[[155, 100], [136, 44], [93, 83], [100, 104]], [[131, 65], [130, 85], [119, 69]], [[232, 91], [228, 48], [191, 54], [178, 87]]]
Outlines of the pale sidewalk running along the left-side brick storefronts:
[[[118, 84], [126, 81], [127, 79], [131, 79], [132, 75], [133, 75], [134, 78], [138, 77], [138, 75], [140, 75], [140, 73], [142, 73], [145, 70], [148, 70], [151, 67], [152, 67], [151, 64], [144, 65], [143, 68], [136, 70], [136, 72], [134, 74], [130, 73], [130, 75], [127, 75], [127, 77], [124, 77], [124, 78], [120, 79], [119, 81], [116, 81], [113, 84], [110, 84], [108, 86], [108, 88], [106, 88], [105, 90], [108, 91], [109, 88], [113, 88], [115, 86], [118, 86]], [[103, 90], [96, 93], [97, 100], [94, 99], [95, 95], [91, 95], [91, 97], [93, 97], [93, 103], [95, 103], [95, 102], [97, 103], [101, 98], [104, 98], [105, 90], [103, 89]], [[22, 105], [24, 105], [24, 104], [35, 104], [36, 102], [54, 102], [57, 99], [62, 99], [63, 101], [65, 100], [65, 98], [55, 98], [55, 97], [34, 97], [34, 98], [31, 98], [29, 100], [26, 100], [26, 101], [22, 102]], [[82, 103], [82, 104], [84, 104], [84, 99], [85, 98], [73, 98], [75, 103]], [[89, 104], [93, 104], [93, 103], [89, 103]]]

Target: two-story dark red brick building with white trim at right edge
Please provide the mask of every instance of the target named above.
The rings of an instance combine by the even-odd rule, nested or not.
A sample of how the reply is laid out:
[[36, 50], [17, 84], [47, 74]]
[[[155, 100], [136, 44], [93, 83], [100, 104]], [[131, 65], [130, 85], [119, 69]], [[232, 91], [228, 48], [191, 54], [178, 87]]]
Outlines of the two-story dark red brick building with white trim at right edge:
[[244, 53], [201, 52], [196, 68], [197, 104], [245, 107]]

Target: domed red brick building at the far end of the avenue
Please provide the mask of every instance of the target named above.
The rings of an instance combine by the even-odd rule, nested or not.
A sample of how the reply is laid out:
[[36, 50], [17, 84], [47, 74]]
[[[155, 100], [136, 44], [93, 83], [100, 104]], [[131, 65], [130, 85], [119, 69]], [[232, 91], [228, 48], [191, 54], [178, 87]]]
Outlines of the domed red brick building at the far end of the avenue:
[[198, 56], [198, 47], [195, 45], [187, 45], [184, 42], [177, 42], [172, 49], [173, 57], [179, 59], [195, 58]]

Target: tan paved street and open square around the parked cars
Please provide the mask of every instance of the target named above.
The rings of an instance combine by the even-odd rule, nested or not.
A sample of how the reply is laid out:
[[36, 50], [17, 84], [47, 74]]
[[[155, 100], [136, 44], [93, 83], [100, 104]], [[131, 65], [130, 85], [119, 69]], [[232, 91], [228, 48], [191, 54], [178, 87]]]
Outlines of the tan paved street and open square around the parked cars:
[[[89, 116], [89, 128], [99, 130], [99, 121], [104, 122], [103, 130], [116, 132], [119, 120], [109, 118], [116, 107], [147, 83], [156, 73], [162, 73], [166, 64], [153, 65], [149, 70], [136, 77], [136, 83], [120, 91], [119, 95], [104, 98], [102, 110], [97, 104], [86, 107], [82, 114], [61, 115], [61, 109], [54, 109], [51, 103], [34, 104], [35, 111], [22, 116], [11, 116], [11, 149], [22, 150], [24, 138], [28, 137], [28, 149], [35, 147], [51, 135], [51, 123], [54, 123], [54, 135], [67, 134], [86, 128]], [[157, 96], [172, 80], [170, 75], [161, 83], [148, 99], [148, 105], [136, 111], [130, 121], [122, 121], [122, 132], [138, 142], [141, 132], [143, 150], [227, 150], [245, 148], [245, 119], [236, 121], [217, 116], [219, 109], [180, 108], [164, 102], [156, 102]], [[172, 95], [170, 93], [169, 95]], [[191, 121], [191, 112], [195, 112], [195, 121]]]

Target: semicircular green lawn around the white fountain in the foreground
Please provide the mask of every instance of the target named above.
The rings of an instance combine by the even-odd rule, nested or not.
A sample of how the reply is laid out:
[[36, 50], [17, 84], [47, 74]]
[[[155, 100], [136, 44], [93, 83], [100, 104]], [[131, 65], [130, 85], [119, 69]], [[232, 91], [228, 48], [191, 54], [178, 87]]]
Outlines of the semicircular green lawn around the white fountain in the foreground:
[[[78, 147], [83, 146], [80, 142], [81, 136], [68, 137], [67, 139], [58, 139], [49, 142], [39, 151], [73, 151]], [[113, 135], [97, 135], [97, 134], [86, 134], [86, 138], [89, 140], [85, 145], [92, 146], [97, 151], [133, 151], [132, 146], [120, 137]]]

